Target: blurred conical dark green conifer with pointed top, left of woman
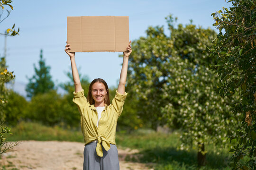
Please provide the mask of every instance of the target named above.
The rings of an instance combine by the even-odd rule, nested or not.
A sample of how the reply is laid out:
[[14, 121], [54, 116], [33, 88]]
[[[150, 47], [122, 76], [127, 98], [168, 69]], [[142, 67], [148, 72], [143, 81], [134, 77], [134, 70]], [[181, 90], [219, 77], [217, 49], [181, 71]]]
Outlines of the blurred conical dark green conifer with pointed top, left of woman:
[[38, 62], [39, 68], [35, 69], [35, 75], [29, 78], [26, 91], [27, 97], [35, 96], [39, 93], [46, 93], [54, 89], [54, 82], [50, 75], [50, 67], [46, 66], [45, 59], [43, 59], [43, 50], [40, 51], [40, 60]]

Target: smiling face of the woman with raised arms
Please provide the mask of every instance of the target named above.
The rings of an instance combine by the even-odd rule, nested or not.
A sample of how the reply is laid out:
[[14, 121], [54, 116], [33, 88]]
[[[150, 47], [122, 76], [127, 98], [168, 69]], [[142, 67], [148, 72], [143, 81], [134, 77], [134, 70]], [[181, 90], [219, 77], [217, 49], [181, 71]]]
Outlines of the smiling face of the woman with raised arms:
[[97, 105], [105, 105], [104, 100], [107, 93], [108, 91], [103, 83], [96, 82], [91, 86], [91, 95]]

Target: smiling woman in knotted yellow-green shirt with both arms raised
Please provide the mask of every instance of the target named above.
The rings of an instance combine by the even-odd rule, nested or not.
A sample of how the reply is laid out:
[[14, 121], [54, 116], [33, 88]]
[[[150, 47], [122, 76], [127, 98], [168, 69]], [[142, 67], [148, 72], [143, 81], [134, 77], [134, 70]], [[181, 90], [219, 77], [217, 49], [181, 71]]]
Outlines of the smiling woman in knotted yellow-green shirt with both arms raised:
[[81, 115], [81, 129], [84, 137], [83, 170], [119, 170], [118, 151], [116, 147], [117, 119], [127, 96], [125, 83], [128, 69], [128, 58], [131, 54], [131, 41], [123, 53], [123, 66], [116, 95], [110, 104], [107, 83], [97, 78], [91, 82], [87, 99], [81, 86], [75, 64], [75, 53], [69, 52], [67, 44], [65, 51], [71, 60], [73, 81], [75, 86], [73, 102], [77, 104]]

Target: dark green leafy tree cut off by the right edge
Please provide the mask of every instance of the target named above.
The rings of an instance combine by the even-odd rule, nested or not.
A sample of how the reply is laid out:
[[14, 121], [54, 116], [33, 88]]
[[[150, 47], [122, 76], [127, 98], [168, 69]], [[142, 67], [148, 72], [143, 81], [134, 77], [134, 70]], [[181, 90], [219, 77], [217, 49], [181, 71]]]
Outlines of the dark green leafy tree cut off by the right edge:
[[210, 52], [217, 59], [219, 95], [233, 99], [233, 115], [241, 113], [239, 128], [229, 133], [230, 142], [237, 141], [230, 150], [234, 169], [256, 170], [256, 0], [229, 2], [229, 9], [212, 13], [219, 34]]

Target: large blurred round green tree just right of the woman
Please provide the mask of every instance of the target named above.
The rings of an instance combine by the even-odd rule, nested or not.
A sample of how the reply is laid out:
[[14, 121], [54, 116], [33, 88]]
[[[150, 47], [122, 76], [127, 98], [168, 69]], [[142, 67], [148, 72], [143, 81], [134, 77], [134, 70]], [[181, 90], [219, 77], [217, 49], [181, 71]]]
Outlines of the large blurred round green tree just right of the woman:
[[[180, 149], [198, 149], [198, 164], [205, 165], [208, 144], [225, 145], [227, 129], [236, 126], [229, 113], [228, 99], [214, 91], [218, 77], [210, 70], [215, 58], [203, 51], [216, 33], [189, 24], [174, 26], [166, 18], [171, 32], [163, 26], [149, 27], [146, 37], [132, 43], [129, 60], [129, 93], [139, 99], [138, 113], [153, 127], [168, 124], [181, 128]], [[220, 102], [221, 101], [221, 102]]]

